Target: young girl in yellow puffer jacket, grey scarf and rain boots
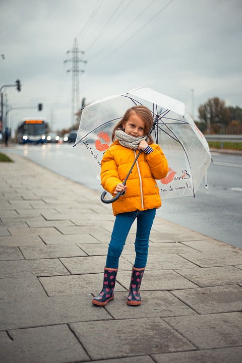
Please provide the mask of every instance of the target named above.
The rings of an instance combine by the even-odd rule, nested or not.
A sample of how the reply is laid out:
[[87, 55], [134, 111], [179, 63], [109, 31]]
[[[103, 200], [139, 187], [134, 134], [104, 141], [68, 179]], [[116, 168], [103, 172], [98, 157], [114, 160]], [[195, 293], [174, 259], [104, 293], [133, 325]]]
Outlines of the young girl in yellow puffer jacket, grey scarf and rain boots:
[[[145, 106], [129, 108], [112, 133], [112, 145], [103, 155], [101, 162], [101, 185], [119, 199], [112, 203], [115, 222], [108, 247], [104, 267], [103, 288], [93, 297], [92, 303], [104, 306], [114, 298], [114, 286], [118, 270], [118, 260], [123, 251], [126, 238], [137, 218], [135, 239], [136, 258], [132, 269], [128, 305], [140, 305], [139, 293], [144, 274], [150, 230], [156, 208], [161, 206], [159, 188], [155, 179], [162, 179], [168, 173], [167, 160], [159, 147], [147, 135], [153, 125], [153, 117]], [[126, 186], [122, 184], [128, 174], [138, 149], [140, 154]]]

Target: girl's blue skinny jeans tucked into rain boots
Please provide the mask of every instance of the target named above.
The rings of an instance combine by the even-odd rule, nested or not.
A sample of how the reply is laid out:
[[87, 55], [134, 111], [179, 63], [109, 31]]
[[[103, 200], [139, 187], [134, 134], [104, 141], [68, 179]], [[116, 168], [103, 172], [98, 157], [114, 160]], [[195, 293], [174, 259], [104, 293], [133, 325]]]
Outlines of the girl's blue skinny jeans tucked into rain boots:
[[145, 211], [119, 213], [116, 215], [111, 240], [108, 247], [106, 267], [118, 268], [118, 260], [125, 246], [130, 228], [137, 218], [137, 231], [135, 238], [136, 258], [134, 267], [146, 266], [149, 248], [150, 230], [155, 218], [156, 208]]

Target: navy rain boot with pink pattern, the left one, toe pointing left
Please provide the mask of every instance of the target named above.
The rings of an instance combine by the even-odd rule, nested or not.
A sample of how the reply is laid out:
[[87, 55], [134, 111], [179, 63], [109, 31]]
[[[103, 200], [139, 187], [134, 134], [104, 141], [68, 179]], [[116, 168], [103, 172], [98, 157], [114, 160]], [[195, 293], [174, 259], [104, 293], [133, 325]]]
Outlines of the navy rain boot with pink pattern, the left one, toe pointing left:
[[117, 276], [117, 269], [104, 267], [102, 291], [93, 297], [92, 304], [104, 306], [114, 298], [114, 287]]

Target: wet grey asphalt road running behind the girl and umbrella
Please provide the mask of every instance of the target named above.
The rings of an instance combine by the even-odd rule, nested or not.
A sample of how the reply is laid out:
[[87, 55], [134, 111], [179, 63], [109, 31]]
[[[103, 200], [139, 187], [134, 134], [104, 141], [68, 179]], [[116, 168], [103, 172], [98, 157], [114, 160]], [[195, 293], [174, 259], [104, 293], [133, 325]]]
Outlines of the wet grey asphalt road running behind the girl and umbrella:
[[[4, 152], [4, 150], [2, 150]], [[99, 180], [70, 144], [18, 145], [9, 148], [59, 174], [102, 192]], [[208, 170], [209, 194], [203, 182], [196, 198], [166, 199], [157, 214], [230, 245], [242, 248], [242, 156], [213, 153]]]

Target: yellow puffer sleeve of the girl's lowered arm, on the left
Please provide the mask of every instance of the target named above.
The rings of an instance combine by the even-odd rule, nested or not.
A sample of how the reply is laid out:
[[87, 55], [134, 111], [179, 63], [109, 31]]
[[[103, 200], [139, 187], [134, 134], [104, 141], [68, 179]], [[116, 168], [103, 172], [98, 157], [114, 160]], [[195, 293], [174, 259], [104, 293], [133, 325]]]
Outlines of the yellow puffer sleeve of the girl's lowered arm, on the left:
[[117, 171], [117, 164], [109, 150], [107, 150], [101, 161], [101, 185], [108, 193], [114, 193], [116, 186], [122, 183]]

